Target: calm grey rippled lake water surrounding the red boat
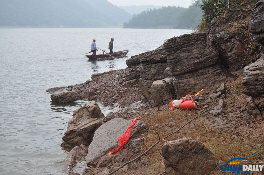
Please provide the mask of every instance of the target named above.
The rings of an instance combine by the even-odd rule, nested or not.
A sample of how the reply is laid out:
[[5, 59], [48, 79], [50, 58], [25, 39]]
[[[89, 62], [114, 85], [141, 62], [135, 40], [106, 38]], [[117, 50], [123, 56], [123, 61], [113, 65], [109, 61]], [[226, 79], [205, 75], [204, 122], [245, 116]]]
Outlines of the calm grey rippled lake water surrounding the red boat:
[[[186, 33], [191, 30], [0, 28], [0, 174], [62, 174], [60, 162], [67, 155], [60, 147], [62, 135], [72, 112], [86, 101], [57, 106], [45, 90], [126, 68], [130, 56]], [[82, 55], [91, 49], [92, 38], [109, 52], [111, 37], [114, 52], [129, 50], [126, 58], [96, 62]]]

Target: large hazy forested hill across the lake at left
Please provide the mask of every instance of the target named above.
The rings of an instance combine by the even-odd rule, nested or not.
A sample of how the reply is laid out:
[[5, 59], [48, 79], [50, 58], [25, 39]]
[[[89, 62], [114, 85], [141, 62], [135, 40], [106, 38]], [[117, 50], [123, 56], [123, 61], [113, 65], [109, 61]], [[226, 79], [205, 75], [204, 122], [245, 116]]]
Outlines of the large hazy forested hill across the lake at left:
[[132, 16], [107, 0], [0, 0], [0, 26], [114, 27]]

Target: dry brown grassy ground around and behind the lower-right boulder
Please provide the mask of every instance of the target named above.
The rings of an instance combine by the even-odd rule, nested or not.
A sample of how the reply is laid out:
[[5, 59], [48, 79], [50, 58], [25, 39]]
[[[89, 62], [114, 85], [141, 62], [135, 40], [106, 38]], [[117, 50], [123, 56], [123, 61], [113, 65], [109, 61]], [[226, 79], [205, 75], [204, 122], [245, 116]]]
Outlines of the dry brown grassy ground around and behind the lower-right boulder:
[[[181, 133], [176, 133], [165, 141], [177, 140], [183, 137], [195, 138], [207, 146], [220, 160], [219, 166], [234, 157], [245, 157], [256, 163], [259, 160], [263, 160], [264, 122], [244, 122], [255, 121], [255, 119], [249, 116], [246, 111], [241, 110], [246, 108], [245, 103], [248, 97], [241, 93], [241, 83], [238, 82], [241, 82], [241, 77], [235, 82], [226, 85], [228, 92], [221, 97], [226, 102], [226, 109], [221, 116], [212, 116], [208, 112], [202, 114], [183, 128], [180, 131]], [[217, 87], [213, 86], [204, 90], [203, 95], [206, 97], [215, 91]], [[207, 102], [207, 105], [210, 107], [216, 105], [216, 103], [217, 99]], [[139, 114], [141, 120], [147, 126], [145, 133], [142, 134], [145, 137], [144, 146], [149, 148], [158, 140], [158, 135], [155, 131], [159, 133], [160, 138], [163, 138], [204, 110], [201, 107], [192, 111], [171, 111], [169, 106], [167, 106], [164, 110], [155, 108], [145, 114]], [[149, 161], [149, 166], [144, 167], [145, 170], [147, 169], [147, 174], [159, 174], [164, 171], [161, 146], [165, 141], [162, 140], [145, 155]], [[262, 144], [262, 146], [259, 147], [258, 144]], [[216, 169], [214, 174], [219, 174], [219, 169]]]

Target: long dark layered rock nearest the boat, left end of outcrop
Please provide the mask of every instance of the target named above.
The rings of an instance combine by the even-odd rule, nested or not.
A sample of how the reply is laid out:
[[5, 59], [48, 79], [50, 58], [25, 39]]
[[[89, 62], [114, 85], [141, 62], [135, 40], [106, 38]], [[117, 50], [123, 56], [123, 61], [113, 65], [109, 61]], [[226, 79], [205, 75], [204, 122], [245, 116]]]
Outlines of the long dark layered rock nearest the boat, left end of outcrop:
[[138, 66], [140, 64], [147, 65], [165, 62], [167, 62], [167, 56], [163, 45], [161, 45], [153, 51], [131, 56], [130, 59], [126, 60], [126, 65], [130, 68], [132, 66]]

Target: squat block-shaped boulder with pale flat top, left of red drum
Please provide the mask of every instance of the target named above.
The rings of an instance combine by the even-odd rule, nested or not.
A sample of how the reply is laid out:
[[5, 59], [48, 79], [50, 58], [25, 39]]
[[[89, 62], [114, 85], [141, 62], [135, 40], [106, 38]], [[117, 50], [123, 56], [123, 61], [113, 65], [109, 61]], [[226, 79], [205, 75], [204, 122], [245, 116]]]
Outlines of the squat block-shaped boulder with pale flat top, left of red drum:
[[152, 83], [150, 94], [155, 106], [168, 104], [174, 99], [172, 79], [173, 78], [165, 78], [163, 80], [156, 80]]

